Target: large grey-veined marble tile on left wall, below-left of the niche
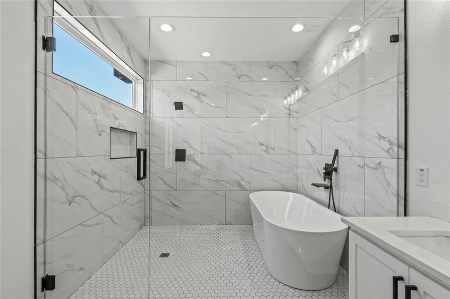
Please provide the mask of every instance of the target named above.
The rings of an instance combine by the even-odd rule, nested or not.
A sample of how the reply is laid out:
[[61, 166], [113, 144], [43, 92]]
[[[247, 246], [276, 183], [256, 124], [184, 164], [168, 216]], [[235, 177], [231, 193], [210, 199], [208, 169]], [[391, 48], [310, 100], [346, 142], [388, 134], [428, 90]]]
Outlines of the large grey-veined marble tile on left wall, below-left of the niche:
[[47, 240], [120, 202], [120, 160], [51, 158], [46, 173]]

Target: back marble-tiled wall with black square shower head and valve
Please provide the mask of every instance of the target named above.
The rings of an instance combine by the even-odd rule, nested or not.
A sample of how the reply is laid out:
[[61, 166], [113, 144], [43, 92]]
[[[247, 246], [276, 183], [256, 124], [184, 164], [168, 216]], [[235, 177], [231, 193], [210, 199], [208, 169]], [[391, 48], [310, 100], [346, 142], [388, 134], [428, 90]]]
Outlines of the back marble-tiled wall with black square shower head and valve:
[[251, 224], [249, 193], [297, 191], [296, 78], [296, 61], [151, 61], [146, 221]]

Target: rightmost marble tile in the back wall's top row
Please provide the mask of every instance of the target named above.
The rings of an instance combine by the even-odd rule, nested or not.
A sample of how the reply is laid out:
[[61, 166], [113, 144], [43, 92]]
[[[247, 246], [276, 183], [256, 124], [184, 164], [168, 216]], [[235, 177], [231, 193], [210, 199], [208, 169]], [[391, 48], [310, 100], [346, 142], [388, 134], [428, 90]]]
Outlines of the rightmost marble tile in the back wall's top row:
[[252, 81], [295, 81], [298, 78], [297, 61], [251, 61], [250, 79]]

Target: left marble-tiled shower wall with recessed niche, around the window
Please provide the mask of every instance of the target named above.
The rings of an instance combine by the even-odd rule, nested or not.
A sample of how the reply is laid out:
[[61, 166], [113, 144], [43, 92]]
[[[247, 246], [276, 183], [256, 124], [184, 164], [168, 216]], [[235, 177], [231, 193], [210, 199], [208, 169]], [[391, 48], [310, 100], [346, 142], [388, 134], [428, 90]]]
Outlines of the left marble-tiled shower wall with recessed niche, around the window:
[[[105, 15], [86, 1], [59, 2], [74, 15]], [[51, 5], [38, 1], [38, 36], [48, 35]], [[80, 20], [145, 77], [144, 58], [109, 19]], [[135, 157], [110, 159], [110, 127], [136, 132], [138, 148], [148, 141], [145, 115], [53, 74], [51, 54], [39, 49], [37, 294], [44, 297], [40, 278], [54, 274], [57, 288], [45, 298], [63, 299], [144, 225], [147, 179], [136, 180]]]

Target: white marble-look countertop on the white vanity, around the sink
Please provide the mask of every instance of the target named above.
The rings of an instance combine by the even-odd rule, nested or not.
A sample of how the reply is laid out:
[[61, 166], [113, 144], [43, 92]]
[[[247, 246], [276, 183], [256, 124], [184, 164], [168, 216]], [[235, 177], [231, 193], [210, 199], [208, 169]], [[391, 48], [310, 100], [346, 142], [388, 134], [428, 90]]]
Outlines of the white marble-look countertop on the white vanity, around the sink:
[[342, 217], [351, 230], [450, 287], [450, 261], [410, 243], [392, 231], [450, 231], [450, 222], [432, 217]]

